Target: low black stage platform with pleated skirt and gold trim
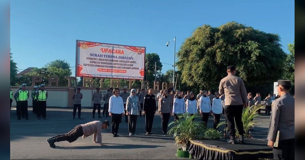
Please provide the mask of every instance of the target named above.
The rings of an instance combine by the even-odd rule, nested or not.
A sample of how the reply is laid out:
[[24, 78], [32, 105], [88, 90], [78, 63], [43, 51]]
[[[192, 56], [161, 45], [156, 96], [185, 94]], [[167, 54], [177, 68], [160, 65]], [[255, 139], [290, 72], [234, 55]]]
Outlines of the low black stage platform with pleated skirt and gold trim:
[[[245, 144], [229, 144], [228, 139], [190, 140], [187, 147], [195, 159], [272, 159], [267, 141], [245, 138]], [[237, 138], [236, 138], [237, 140]]]

